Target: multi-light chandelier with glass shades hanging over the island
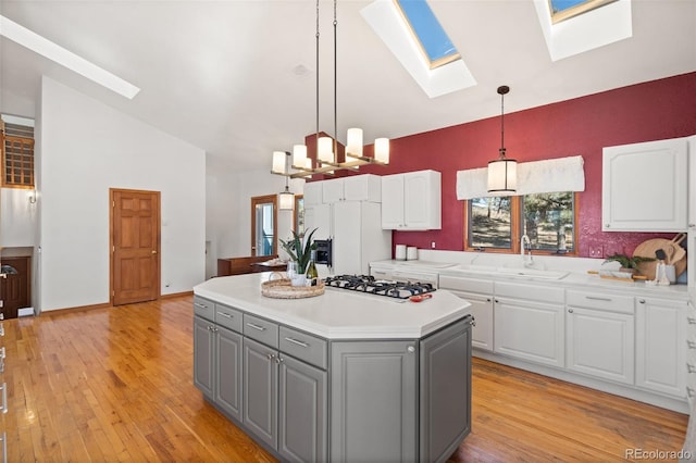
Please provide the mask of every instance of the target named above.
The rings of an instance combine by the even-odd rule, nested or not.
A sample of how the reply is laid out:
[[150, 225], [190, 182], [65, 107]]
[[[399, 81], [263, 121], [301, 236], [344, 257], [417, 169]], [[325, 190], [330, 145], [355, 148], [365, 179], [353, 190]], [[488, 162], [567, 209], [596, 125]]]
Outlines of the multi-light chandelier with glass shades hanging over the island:
[[[346, 141], [346, 159], [344, 162], [337, 161], [338, 142], [337, 137], [337, 109], [336, 109], [336, 80], [337, 80], [337, 59], [336, 59], [336, 0], [334, 0], [334, 138], [320, 136], [319, 132], [319, 0], [316, 1], [316, 164], [307, 157], [306, 145], [295, 145], [293, 153], [288, 151], [273, 152], [272, 174], [284, 175], [290, 178], [306, 178], [313, 174], [333, 174], [335, 171], [357, 170], [361, 165], [377, 164], [387, 165], [389, 163], [389, 139], [377, 138], [374, 140], [374, 157], [363, 155], [362, 129], [349, 128]], [[287, 162], [291, 155], [291, 162]], [[286, 187], [287, 190], [287, 187]], [[285, 191], [284, 191], [285, 193]]]

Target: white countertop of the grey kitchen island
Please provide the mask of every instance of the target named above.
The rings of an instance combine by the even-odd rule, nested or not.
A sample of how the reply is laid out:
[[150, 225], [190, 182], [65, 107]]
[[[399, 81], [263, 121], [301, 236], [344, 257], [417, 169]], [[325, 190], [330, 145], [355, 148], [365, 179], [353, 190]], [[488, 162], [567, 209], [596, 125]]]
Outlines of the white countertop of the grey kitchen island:
[[261, 283], [270, 275], [212, 278], [194, 293], [326, 339], [418, 339], [470, 313], [468, 301], [439, 289], [423, 302], [328, 287], [313, 298], [268, 298]]

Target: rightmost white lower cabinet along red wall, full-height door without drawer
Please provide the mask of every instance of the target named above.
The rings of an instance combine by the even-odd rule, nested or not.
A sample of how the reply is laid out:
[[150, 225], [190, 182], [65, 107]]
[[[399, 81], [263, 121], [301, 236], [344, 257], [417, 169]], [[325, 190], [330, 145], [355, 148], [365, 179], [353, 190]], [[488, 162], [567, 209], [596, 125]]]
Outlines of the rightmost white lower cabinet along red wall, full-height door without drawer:
[[686, 340], [686, 302], [652, 298], [636, 302], [636, 386], [686, 397], [686, 362], [691, 362], [686, 352], [696, 349]]

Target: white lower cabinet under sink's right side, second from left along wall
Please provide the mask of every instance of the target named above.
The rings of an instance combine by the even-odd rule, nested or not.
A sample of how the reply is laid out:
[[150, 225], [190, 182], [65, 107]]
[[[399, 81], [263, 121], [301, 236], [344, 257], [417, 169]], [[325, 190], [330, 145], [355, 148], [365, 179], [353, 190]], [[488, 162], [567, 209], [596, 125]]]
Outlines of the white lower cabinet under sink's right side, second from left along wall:
[[496, 283], [496, 353], [563, 366], [563, 288]]

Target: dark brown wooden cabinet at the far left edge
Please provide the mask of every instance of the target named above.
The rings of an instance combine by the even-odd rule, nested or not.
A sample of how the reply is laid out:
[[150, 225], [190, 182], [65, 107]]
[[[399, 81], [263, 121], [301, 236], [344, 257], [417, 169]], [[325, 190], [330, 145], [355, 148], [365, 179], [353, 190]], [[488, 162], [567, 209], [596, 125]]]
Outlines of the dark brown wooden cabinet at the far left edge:
[[4, 318], [16, 318], [20, 309], [32, 306], [32, 258], [2, 258], [0, 312]]

